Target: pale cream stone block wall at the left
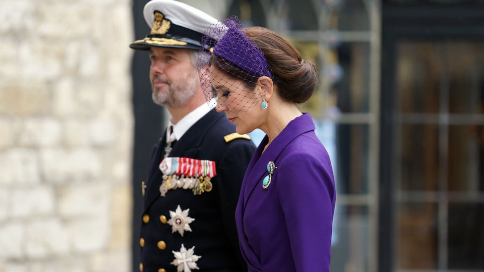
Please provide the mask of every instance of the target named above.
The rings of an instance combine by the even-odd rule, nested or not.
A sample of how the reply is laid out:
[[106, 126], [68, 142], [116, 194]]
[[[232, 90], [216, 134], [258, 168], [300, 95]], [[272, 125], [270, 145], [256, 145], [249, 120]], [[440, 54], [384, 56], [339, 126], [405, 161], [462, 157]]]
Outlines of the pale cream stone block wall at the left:
[[0, 272], [130, 270], [131, 12], [0, 1]]

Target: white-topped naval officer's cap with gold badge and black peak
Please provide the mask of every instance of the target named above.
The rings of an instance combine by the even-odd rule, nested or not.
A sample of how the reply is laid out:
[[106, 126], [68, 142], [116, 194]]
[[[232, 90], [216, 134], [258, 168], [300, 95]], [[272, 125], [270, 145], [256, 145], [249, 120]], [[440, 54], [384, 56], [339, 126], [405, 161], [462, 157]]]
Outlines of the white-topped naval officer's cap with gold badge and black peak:
[[135, 50], [150, 47], [198, 50], [203, 32], [218, 22], [207, 13], [175, 0], [151, 0], [144, 6], [143, 16], [151, 31], [146, 38], [129, 45]]

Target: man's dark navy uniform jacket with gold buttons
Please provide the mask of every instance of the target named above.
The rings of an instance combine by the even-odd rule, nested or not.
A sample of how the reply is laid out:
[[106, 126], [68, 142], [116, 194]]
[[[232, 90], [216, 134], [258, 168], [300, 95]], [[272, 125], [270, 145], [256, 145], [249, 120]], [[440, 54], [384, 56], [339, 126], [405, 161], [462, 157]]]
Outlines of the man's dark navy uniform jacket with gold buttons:
[[[177, 271], [177, 266], [171, 264], [175, 259], [172, 251], [180, 252], [182, 244], [187, 250], [194, 246], [194, 254], [201, 257], [196, 261], [199, 270], [192, 271], [247, 270], [238, 243], [235, 209], [243, 175], [255, 146], [244, 138], [227, 142], [224, 136], [234, 132], [235, 126], [225, 114], [212, 109], [173, 145], [169, 157], [216, 163], [217, 175], [211, 179], [213, 189], [201, 195], [182, 188], [168, 190], [165, 197], [160, 195], [163, 180], [159, 164], [165, 153], [166, 133], [155, 145], [143, 196], [142, 271]], [[172, 226], [167, 223], [171, 218], [170, 211], [175, 212], [179, 205], [182, 210], [189, 209], [188, 216], [194, 218], [189, 223], [191, 231], [184, 231], [183, 236], [178, 231], [173, 233]]]

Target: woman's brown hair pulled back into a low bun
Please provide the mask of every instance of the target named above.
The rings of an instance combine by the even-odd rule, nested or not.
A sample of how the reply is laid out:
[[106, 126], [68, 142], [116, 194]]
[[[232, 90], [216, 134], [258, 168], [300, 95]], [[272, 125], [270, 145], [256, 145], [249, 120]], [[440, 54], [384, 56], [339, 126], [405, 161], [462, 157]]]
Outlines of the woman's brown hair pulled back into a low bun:
[[[316, 65], [312, 61], [303, 60], [293, 45], [267, 28], [246, 27], [242, 32], [264, 54], [273, 74], [272, 80], [283, 100], [299, 104], [312, 96], [318, 84]], [[237, 65], [216, 55], [212, 57], [211, 63], [235, 79], [251, 78], [252, 81], [244, 82], [247, 87], [255, 87], [257, 78], [245, 76], [247, 72]]]

